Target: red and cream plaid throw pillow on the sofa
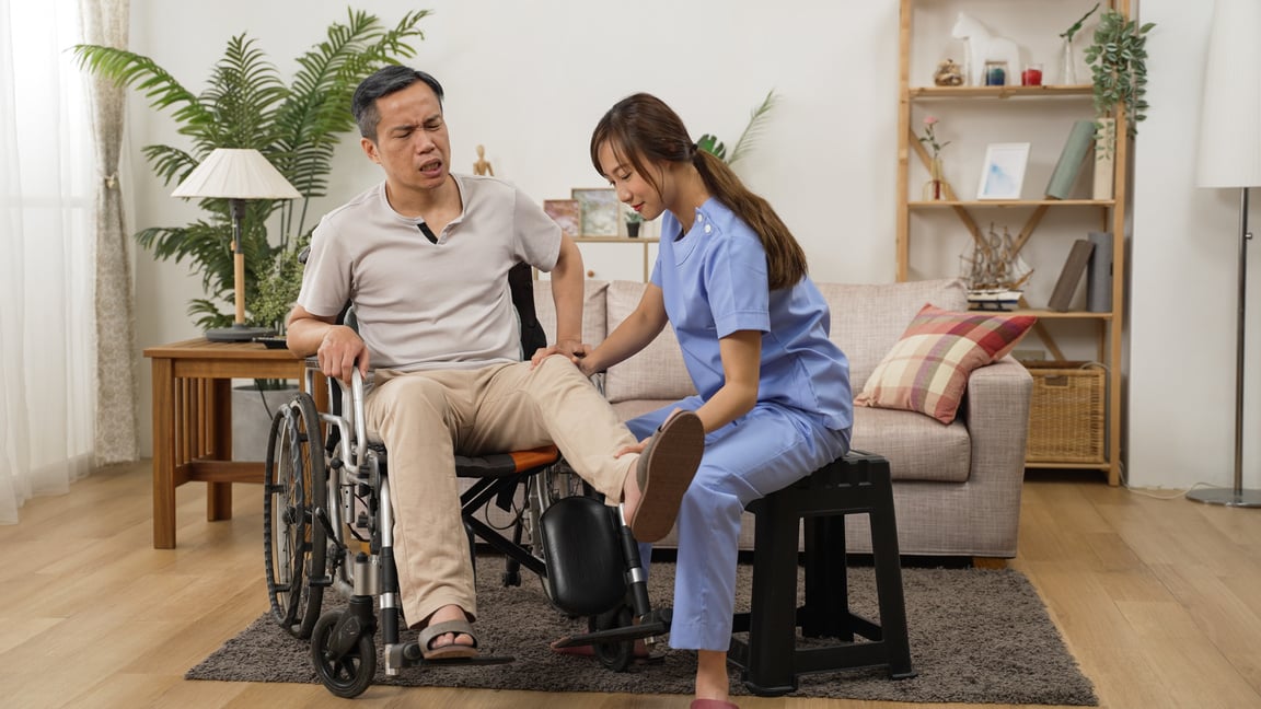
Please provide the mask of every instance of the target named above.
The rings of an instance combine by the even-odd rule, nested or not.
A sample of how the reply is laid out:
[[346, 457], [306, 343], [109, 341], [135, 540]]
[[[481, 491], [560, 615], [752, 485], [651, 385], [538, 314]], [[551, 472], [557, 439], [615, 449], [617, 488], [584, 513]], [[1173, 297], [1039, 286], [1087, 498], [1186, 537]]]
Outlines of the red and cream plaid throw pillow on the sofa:
[[972, 370], [1011, 352], [1037, 320], [1033, 315], [956, 313], [924, 305], [854, 402], [918, 411], [948, 424]]

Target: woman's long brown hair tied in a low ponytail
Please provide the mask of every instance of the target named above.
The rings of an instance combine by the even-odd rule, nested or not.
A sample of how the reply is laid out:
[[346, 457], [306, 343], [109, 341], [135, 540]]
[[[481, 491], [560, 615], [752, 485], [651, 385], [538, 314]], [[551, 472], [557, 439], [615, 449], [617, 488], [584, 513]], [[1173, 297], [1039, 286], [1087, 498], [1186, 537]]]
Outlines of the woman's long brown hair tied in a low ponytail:
[[682, 119], [661, 98], [636, 93], [604, 114], [591, 134], [591, 164], [601, 175], [599, 150], [605, 143], [619, 161], [629, 163], [658, 194], [665, 174], [662, 164], [695, 165], [710, 194], [744, 220], [762, 240], [770, 290], [796, 285], [806, 275], [806, 252], [770, 203], [744, 187], [726, 163], [697, 149]]

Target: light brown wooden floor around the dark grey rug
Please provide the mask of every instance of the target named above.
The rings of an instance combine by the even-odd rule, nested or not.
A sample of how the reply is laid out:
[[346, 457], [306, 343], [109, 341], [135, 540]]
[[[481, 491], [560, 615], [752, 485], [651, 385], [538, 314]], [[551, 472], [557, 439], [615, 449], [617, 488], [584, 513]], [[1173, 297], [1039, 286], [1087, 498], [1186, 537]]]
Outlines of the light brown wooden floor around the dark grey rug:
[[[1261, 510], [1039, 474], [1025, 484], [1011, 566], [1042, 593], [1102, 706], [1261, 706]], [[206, 522], [204, 486], [183, 486], [175, 550], [153, 549], [148, 462], [35, 498], [19, 525], [0, 526], [0, 705], [689, 705], [683, 696], [388, 686], [352, 704], [319, 685], [184, 681], [188, 667], [266, 608], [259, 489], [236, 491], [235, 519]], [[794, 698], [740, 705], [908, 706]]]

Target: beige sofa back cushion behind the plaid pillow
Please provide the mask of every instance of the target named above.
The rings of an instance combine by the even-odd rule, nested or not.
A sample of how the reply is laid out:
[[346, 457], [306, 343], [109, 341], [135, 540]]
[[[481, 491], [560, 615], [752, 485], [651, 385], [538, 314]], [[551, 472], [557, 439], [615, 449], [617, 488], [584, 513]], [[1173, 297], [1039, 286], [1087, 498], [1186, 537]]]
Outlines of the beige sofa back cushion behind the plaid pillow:
[[861, 391], [880, 360], [902, 337], [924, 303], [947, 310], [967, 309], [967, 289], [958, 279], [886, 284], [821, 283], [832, 312], [832, 342], [850, 360], [850, 386]]

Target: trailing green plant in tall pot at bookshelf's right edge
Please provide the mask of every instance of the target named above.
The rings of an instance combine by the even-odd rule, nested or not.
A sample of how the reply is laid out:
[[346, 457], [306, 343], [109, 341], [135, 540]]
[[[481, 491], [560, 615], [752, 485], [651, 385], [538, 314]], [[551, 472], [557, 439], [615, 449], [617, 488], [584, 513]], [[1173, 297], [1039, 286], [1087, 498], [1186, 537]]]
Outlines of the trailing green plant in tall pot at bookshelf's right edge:
[[1117, 110], [1126, 136], [1137, 135], [1148, 112], [1148, 33], [1155, 23], [1139, 24], [1116, 10], [1105, 10], [1086, 48], [1095, 92], [1095, 199], [1111, 199], [1117, 140]]

